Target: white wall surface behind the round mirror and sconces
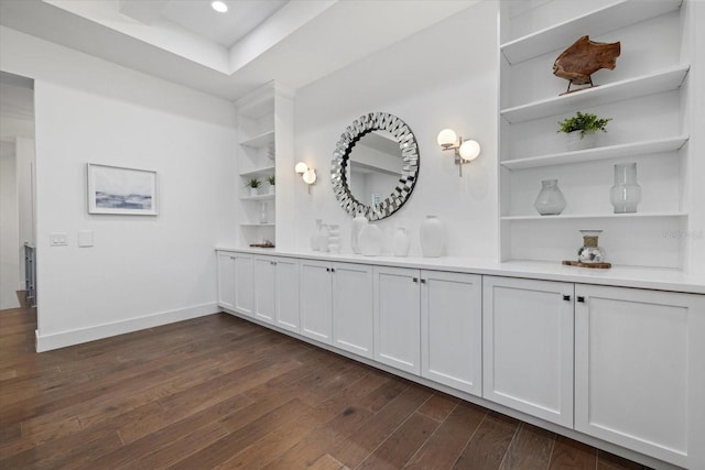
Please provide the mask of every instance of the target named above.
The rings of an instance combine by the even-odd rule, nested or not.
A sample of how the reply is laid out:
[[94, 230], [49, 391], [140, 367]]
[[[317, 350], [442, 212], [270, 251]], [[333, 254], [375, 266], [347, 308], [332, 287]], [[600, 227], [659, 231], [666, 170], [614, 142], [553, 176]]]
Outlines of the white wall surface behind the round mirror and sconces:
[[[497, 4], [482, 2], [409, 40], [296, 90], [295, 155], [316, 168], [311, 195], [295, 188], [291, 230], [299, 249], [310, 249], [314, 220], [343, 223], [341, 251], [350, 252], [350, 222], [330, 188], [330, 159], [340, 133], [370, 111], [386, 111], [416, 135], [421, 171], [410, 200], [379, 222], [390, 241], [393, 227], [412, 234], [411, 255], [421, 254], [419, 227], [437, 215], [449, 233], [447, 254], [497, 259]], [[442, 152], [436, 135], [453, 128], [482, 145], [463, 168]], [[293, 168], [292, 168], [293, 176]], [[389, 249], [389, 248], [388, 248]]]

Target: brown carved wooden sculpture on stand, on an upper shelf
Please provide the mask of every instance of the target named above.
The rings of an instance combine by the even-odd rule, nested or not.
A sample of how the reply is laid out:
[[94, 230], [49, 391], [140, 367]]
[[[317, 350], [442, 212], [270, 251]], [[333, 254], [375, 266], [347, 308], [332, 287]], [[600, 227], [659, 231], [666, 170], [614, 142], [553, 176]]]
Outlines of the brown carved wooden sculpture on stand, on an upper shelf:
[[571, 92], [571, 85], [589, 84], [592, 87], [594, 85], [590, 75], [600, 68], [614, 70], [620, 52], [621, 43], [619, 42], [598, 43], [590, 41], [589, 36], [583, 36], [556, 57], [553, 63], [553, 75], [570, 80], [566, 94]]

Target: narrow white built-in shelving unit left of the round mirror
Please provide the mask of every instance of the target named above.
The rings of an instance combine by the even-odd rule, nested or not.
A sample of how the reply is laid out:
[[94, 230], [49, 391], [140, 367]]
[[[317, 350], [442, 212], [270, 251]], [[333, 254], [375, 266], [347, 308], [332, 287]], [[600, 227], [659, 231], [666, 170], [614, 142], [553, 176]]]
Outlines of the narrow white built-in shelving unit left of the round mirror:
[[[276, 176], [280, 162], [293, 168], [293, 91], [272, 81], [235, 105], [239, 131], [237, 184], [241, 188], [239, 244], [275, 244], [278, 201], [267, 179], [274, 176], [276, 188], [281, 183]], [[258, 195], [246, 187], [251, 178], [261, 182]]]

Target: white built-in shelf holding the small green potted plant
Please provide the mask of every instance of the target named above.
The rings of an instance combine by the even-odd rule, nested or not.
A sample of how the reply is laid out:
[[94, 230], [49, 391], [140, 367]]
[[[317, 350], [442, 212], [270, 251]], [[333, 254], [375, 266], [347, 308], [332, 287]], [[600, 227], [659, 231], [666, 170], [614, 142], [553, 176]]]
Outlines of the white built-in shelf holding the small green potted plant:
[[550, 155], [538, 155], [501, 162], [505, 168], [527, 170], [540, 166], [563, 165], [571, 163], [592, 162], [595, 160], [619, 159], [630, 155], [648, 155], [651, 153], [673, 152], [681, 149], [687, 136], [657, 139], [650, 141], [631, 142], [619, 145], [601, 146], [597, 149], [561, 152]]

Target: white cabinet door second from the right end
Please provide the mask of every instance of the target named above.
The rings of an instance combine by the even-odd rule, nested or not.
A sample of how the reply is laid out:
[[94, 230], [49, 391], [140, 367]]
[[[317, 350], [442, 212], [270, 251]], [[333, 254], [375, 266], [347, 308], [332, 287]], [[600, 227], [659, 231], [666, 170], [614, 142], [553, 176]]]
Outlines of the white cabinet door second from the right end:
[[573, 427], [573, 284], [482, 283], [482, 396]]

